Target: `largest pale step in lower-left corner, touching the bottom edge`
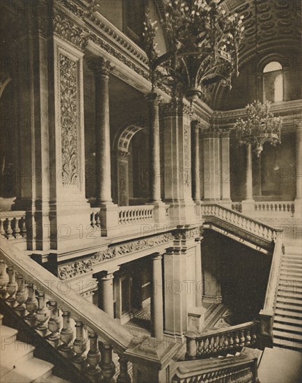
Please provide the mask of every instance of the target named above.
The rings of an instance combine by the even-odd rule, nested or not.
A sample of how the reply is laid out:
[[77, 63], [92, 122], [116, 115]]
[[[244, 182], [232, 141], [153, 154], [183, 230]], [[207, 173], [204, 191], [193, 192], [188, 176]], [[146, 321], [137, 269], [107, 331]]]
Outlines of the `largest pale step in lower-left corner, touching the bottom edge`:
[[1, 383], [40, 383], [47, 382], [51, 375], [53, 364], [33, 358], [18, 363], [16, 368], [1, 378]]

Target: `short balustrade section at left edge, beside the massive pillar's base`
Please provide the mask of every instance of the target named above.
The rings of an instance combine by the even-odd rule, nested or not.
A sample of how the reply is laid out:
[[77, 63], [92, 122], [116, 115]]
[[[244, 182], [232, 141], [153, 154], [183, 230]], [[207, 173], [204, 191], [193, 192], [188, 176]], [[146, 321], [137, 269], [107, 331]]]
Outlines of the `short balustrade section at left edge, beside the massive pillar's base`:
[[8, 240], [26, 237], [24, 211], [0, 212], [0, 233]]

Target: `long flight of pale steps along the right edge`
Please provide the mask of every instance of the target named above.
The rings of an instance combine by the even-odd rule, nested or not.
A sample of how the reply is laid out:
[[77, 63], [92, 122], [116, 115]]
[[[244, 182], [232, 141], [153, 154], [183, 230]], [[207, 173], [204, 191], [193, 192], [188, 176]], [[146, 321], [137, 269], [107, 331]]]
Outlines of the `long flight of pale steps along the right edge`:
[[302, 241], [285, 240], [273, 320], [273, 345], [302, 351]]

